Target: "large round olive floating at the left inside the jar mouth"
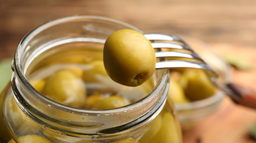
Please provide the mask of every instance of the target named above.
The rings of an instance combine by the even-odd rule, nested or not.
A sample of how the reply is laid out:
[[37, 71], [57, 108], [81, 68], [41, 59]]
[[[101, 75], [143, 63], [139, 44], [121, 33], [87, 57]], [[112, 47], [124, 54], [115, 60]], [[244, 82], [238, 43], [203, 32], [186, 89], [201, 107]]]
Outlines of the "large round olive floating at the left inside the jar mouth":
[[83, 80], [69, 70], [60, 70], [50, 76], [42, 93], [55, 102], [76, 108], [82, 107], [86, 99]]

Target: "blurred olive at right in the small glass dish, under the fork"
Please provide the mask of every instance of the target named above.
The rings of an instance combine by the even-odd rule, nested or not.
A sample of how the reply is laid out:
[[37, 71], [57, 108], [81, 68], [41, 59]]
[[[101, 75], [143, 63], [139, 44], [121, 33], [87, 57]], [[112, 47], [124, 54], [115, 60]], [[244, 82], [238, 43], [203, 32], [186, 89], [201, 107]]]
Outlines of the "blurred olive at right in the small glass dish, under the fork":
[[184, 91], [190, 100], [202, 100], [215, 93], [215, 86], [203, 70], [188, 69], [184, 76], [187, 80]]

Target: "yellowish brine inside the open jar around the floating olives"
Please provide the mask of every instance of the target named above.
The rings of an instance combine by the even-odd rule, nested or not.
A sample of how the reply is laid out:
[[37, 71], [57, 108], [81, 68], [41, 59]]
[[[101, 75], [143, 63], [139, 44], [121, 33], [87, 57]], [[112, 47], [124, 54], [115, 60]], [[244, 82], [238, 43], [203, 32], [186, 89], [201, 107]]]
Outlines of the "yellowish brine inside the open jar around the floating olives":
[[[138, 87], [123, 86], [110, 79], [104, 69], [102, 49], [103, 44], [98, 42], [88, 44], [76, 41], [55, 46], [31, 62], [31, 66], [26, 70], [26, 76], [32, 86], [42, 93], [42, 84], [61, 70], [71, 71], [82, 79], [86, 88], [86, 98], [95, 94], [102, 94], [105, 97], [117, 95], [133, 103], [150, 93], [155, 86], [154, 77]], [[86, 106], [85, 104], [82, 108]]]

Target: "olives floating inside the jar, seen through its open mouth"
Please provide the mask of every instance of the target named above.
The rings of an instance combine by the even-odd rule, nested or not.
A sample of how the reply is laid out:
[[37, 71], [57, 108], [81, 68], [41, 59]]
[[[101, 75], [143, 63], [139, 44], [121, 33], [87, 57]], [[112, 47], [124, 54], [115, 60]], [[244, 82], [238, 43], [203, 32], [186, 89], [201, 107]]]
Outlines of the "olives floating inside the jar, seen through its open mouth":
[[[31, 84], [53, 101], [75, 108], [111, 109], [131, 103], [128, 99], [115, 93], [88, 92], [87, 90], [89, 89], [87, 89], [86, 83], [90, 85], [90, 82], [96, 82], [97, 76], [107, 77], [103, 61], [93, 61], [91, 66], [93, 68], [86, 71], [81, 69], [61, 69], [44, 79], [32, 80]], [[103, 70], [97, 72], [99, 68]], [[145, 83], [145, 85], [150, 86], [148, 88], [153, 88], [150, 83]]]

